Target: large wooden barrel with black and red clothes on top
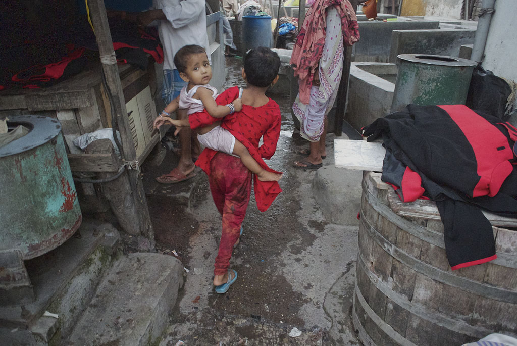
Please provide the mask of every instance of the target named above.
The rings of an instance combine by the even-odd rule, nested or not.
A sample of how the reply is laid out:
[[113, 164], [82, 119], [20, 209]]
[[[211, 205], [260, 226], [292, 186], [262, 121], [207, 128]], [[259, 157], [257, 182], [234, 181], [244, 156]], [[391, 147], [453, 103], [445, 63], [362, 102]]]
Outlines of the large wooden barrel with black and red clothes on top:
[[[492, 225], [517, 220], [488, 215]], [[517, 330], [517, 232], [494, 227], [497, 259], [452, 271], [431, 201], [401, 203], [364, 172], [354, 326], [364, 345], [462, 345]]]

